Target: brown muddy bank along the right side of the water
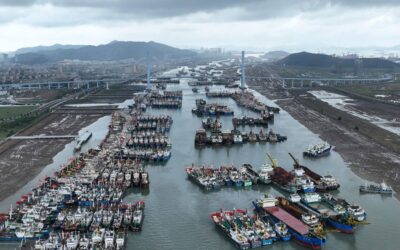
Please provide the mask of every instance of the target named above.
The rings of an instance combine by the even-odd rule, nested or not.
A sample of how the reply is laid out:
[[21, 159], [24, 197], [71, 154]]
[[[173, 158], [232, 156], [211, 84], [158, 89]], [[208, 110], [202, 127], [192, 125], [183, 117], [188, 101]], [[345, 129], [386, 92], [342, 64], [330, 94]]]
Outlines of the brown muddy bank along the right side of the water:
[[400, 199], [400, 183], [398, 182], [400, 154], [396, 152], [396, 148], [385, 147], [373, 138], [306, 106], [288, 91], [275, 92], [274, 89], [259, 84], [251, 84], [249, 87], [269, 99], [275, 99], [274, 102], [294, 119], [318, 134], [322, 140], [335, 146], [335, 151], [357, 176], [375, 183], [381, 183], [384, 180], [395, 191], [394, 196]]

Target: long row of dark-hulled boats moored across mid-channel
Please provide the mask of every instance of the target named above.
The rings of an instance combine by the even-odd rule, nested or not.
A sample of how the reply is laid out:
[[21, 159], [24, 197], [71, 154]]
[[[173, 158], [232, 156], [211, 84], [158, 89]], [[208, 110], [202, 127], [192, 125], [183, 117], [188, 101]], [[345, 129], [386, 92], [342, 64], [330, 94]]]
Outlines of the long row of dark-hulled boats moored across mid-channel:
[[243, 143], [276, 143], [286, 141], [287, 137], [277, 134], [271, 129], [268, 133], [260, 129], [259, 133], [250, 131], [249, 133], [242, 132], [238, 129], [234, 130], [220, 130], [213, 129], [210, 135], [207, 134], [205, 129], [196, 130], [195, 146], [217, 146], [217, 145], [232, 145]]

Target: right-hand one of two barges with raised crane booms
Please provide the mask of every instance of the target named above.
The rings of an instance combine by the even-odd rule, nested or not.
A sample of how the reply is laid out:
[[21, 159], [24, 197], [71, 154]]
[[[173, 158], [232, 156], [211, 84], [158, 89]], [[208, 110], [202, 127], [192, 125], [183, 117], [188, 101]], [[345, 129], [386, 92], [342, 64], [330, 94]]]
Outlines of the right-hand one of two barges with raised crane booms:
[[332, 175], [328, 174], [325, 176], [321, 176], [309, 169], [308, 167], [301, 165], [291, 153], [289, 153], [289, 155], [294, 161], [294, 169], [302, 170], [304, 172], [304, 175], [310, 177], [311, 180], [316, 184], [315, 188], [318, 192], [326, 192], [339, 189], [340, 184], [337, 183], [336, 179]]

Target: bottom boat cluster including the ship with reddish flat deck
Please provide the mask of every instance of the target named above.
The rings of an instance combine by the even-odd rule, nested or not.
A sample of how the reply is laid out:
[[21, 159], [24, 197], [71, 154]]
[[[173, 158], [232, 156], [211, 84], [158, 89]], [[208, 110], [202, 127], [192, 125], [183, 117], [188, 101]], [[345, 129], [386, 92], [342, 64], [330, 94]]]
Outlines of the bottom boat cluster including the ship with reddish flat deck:
[[292, 196], [276, 198], [266, 194], [252, 202], [255, 215], [249, 215], [243, 209], [220, 210], [213, 212], [211, 219], [239, 249], [291, 239], [303, 246], [321, 249], [327, 241], [328, 229], [353, 233], [360, 219], [350, 212], [322, 214], [318, 209], [292, 199]]

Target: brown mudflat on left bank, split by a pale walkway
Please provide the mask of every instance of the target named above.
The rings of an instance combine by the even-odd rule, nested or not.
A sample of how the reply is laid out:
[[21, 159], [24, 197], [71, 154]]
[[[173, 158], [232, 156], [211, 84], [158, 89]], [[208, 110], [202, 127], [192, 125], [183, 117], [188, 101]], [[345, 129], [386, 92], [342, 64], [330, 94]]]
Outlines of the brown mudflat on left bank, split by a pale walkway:
[[[50, 114], [18, 135], [76, 135], [103, 115]], [[12, 195], [52, 162], [71, 139], [12, 140], [0, 144], [0, 201]]]

